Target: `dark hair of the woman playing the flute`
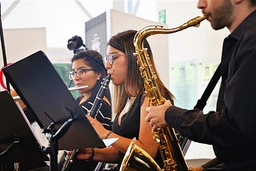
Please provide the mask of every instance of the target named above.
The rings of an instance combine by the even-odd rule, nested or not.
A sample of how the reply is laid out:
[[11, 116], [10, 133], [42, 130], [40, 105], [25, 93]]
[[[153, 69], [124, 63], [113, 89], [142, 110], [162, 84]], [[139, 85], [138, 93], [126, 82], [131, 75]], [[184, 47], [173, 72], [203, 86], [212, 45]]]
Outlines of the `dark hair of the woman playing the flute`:
[[[101, 73], [101, 78], [98, 80], [98, 82], [94, 86], [94, 89], [92, 90], [92, 94], [89, 98], [89, 100], [94, 101], [98, 93], [98, 89], [100, 89], [100, 87], [102, 86], [103, 78], [106, 78], [106, 68], [102, 60], [102, 55], [94, 50], [86, 50], [86, 51], [79, 52], [78, 54], [75, 54], [74, 57], [71, 59], [71, 62], [73, 63], [78, 59], [82, 59], [86, 63], [86, 65], [94, 69], [94, 72]], [[111, 101], [109, 89], [106, 92], [106, 97], [109, 101]]]

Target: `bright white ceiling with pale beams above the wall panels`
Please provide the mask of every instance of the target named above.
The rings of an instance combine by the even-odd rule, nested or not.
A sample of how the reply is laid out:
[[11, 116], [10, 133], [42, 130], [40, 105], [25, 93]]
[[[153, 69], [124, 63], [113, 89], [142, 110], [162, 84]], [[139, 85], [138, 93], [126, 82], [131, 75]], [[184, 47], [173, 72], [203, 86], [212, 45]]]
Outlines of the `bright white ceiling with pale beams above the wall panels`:
[[66, 41], [74, 35], [84, 38], [85, 22], [109, 9], [157, 21], [156, 2], [157, 0], [3, 0], [2, 27], [44, 27], [48, 47], [66, 47]]

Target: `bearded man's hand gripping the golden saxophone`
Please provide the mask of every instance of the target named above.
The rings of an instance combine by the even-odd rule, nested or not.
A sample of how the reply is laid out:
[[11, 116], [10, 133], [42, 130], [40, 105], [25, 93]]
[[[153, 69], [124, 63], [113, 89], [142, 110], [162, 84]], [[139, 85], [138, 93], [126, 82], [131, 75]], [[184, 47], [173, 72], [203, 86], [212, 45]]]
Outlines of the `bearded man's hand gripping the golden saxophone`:
[[165, 113], [166, 109], [171, 106], [170, 100], [165, 101], [163, 105], [149, 106], [146, 108], [148, 115], [146, 116], [146, 121], [150, 122], [152, 126], [152, 131], [158, 128], [163, 128], [167, 126]]

